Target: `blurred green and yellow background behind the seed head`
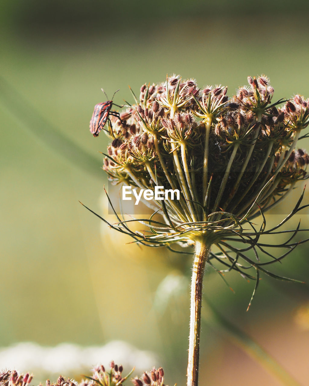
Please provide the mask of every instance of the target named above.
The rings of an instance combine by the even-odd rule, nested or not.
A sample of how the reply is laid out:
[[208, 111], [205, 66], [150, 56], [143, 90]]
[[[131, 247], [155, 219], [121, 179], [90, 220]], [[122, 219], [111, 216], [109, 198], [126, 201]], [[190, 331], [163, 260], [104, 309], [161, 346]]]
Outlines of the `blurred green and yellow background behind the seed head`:
[[[185, 383], [187, 281], [178, 276], [185, 291], [166, 307], [155, 310], [153, 303], [158, 284], [186, 262], [188, 271], [190, 258], [140, 252], [107, 227], [102, 235], [100, 220], [78, 202], [104, 213], [107, 178], [98, 152], [107, 139], [89, 132], [93, 106], [105, 100], [101, 87], [110, 97], [121, 89], [115, 103], [132, 102], [127, 85], [138, 92], [166, 73], [196, 78], [201, 87], [228, 85], [230, 95], [248, 75], [265, 73], [275, 99], [308, 97], [308, 10], [305, 1], [2, 0], [0, 347], [121, 339], [156, 352], [167, 383]], [[87, 170], [77, 148], [70, 154], [64, 142], [44, 142], [48, 137], [51, 145], [54, 128], [93, 157]], [[308, 140], [301, 147], [308, 150]], [[300, 192], [271, 213], [270, 223], [289, 212]], [[302, 226], [308, 227], [306, 212]], [[277, 272], [306, 281], [307, 247]], [[246, 313], [253, 283], [233, 273], [226, 279], [235, 294], [209, 269], [207, 297], [305, 385], [309, 322], [299, 307], [306, 313], [307, 284], [263, 277]], [[280, 385], [215, 325], [203, 322], [201, 346], [200, 384], [242, 385], [250, 377], [251, 385]]]

